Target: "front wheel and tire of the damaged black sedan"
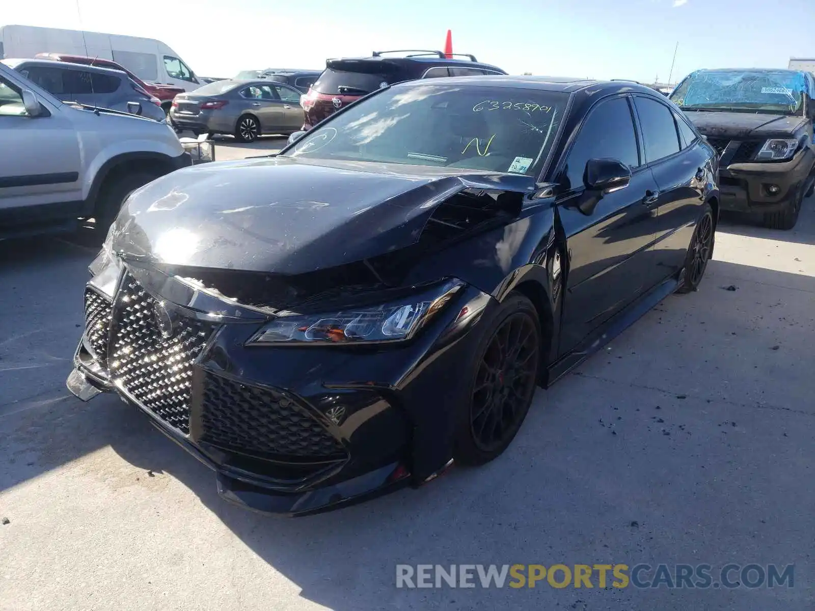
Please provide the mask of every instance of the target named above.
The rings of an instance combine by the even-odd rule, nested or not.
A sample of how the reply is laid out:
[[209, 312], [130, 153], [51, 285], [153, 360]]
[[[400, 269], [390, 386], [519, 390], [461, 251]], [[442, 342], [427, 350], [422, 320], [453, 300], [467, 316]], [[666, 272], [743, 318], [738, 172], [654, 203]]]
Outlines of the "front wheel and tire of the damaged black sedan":
[[529, 298], [510, 294], [482, 324], [456, 418], [457, 464], [500, 456], [526, 419], [537, 385], [540, 320]]

